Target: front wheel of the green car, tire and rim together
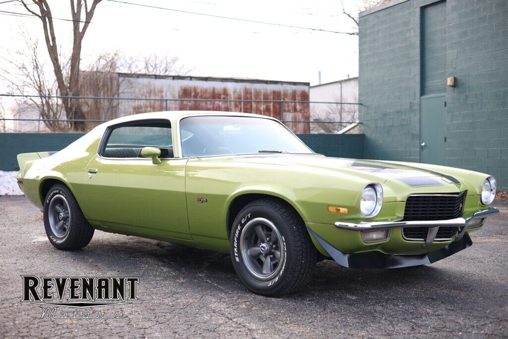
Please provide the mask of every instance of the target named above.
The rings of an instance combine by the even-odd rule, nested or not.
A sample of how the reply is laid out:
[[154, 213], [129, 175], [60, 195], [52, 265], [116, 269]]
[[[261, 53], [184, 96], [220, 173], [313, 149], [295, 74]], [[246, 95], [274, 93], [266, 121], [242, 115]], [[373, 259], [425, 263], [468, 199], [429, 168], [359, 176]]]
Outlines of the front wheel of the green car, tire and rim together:
[[235, 271], [252, 292], [280, 296], [309, 283], [316, 250], [289, 204], [272, 199], [248, 203], [238, 213], [230, 239]]

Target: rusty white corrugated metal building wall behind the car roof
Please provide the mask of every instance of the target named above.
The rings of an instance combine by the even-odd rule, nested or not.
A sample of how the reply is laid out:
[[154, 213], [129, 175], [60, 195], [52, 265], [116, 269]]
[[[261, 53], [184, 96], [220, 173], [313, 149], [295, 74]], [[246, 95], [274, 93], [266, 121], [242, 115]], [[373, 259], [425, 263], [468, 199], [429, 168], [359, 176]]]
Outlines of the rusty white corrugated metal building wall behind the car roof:
[[[269, 115], [277, 119], [282, 118], [280, 102], [252, 102], [250, 100], [309, 100], [309, 84], [304, 82], [119, 74], [118, 86], [120, 97], [245, 100], [244, 102], [170, 101], [168, 110], [246, 112]], [[118, 116], [163, 110], [166, 110], [164, 101], [121, 101]], [[285, 103], [283, 119], [309, 121], [309, 104]], [[286, 125], [295, 133], [310, 132], [308, 122]]]

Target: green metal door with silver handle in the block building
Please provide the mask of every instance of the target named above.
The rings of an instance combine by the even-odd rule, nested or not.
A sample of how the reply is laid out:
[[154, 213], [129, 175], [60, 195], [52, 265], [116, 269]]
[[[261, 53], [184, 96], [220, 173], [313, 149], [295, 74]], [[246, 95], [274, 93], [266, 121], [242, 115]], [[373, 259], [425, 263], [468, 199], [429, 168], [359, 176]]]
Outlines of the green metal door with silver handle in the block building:
[[420, 161], [427, 164], [446, 163], [446, 107], [444, 95], [420, 98]]

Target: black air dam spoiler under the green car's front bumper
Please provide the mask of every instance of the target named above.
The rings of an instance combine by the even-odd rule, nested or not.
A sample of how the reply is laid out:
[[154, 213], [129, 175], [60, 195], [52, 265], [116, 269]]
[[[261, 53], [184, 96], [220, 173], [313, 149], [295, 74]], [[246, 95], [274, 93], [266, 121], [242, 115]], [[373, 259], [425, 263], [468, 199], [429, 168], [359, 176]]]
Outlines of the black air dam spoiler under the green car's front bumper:
[[379, 251], [344, 253], [334, 248], [311, 229], [308, 230], [339, 265], [350, 268], [400, 268], [427, 265], [467, 249], [473, 244], [469, 234], [465, 233], [461, 239], [451, 242], [442, 249], [426, 254], [393, 255]]

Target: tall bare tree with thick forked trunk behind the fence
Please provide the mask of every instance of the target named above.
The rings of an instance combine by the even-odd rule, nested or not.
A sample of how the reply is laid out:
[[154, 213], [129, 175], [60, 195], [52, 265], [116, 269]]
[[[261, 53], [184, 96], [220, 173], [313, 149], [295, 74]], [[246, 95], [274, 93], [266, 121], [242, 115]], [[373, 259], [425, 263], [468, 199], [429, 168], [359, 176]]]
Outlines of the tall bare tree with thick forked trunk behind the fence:
[[[32, 10], [28, 6], [27, 0], [19, 0], [23, 7], [31, 14], [39, 17], [42, 22], [44, 31], [44, 39], [49, 53], [51, 64], [56, 79], [58, 92], [61, 96], [79, 96], [79, 66], [81, 62], [81, 44], [85, 36], [86, 30], [93, 17], [97, 5], [102, 0], [92, 0], [88, 6], [87, 0], [71, 0], [71, 16], [73, 20], [73, 44], [71, 57], [69, 59], [69, 74], [66, 74], [66, 61], [61, 60], [56, 42], [55, 29], [53, 26], [53, 17], [47, 0], [32, 0], [37, 6], [37, 10]], [[84, 7], [84, 8], [83, 8]], [[84, 20], [81, 16], [84, 14]], [[84, 119], [83, 111], [78, 100], [62, 99], [63, 108], [65, 109], [67, 119]], [[76, 122], [72, 125], [73, 129], [84, 130], [84, 124]]]

